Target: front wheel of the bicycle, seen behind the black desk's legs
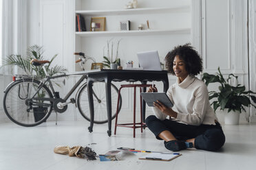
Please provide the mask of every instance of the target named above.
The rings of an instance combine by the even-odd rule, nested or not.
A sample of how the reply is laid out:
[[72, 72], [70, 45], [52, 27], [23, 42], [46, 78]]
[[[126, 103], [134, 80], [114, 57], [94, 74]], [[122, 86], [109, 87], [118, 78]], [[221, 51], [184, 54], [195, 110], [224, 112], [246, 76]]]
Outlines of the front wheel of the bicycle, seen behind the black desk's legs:
[[[94, 123], [102, 124], [107, 123], [107, 99], [105, 93], [105, 83], [103, 82], [94, 82], [92, 86], [93, 101], [94, 101]], [[98, 99], [97, 99], [98, 98]], [[111, 84], [111, 108], [112, 108], [112, 117], [113, 120], [116, 117], [116, 105], [118, 101], [118, 88], [114, 84]], [[82, 116], [90, 121], [90, 112], [89, 112], [89, 102], [87, 95], [87, 84], [81, 88], [77, 97], [77, 106], [79, 112]], [[122, 106], [122, 97], [120, 97], [118, 112]]]

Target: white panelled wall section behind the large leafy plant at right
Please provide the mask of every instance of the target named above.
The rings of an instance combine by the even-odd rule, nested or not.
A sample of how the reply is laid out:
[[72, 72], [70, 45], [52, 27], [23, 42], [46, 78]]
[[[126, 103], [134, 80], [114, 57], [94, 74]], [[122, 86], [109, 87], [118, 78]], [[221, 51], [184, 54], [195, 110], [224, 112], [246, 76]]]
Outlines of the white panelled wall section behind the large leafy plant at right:
[[[216, 73], [220, 66], [224, 76], [238, 75], [248, 90], [247, 1], [202, 1], [202, 57], [204, 72]], [[216, 85], [209, 89], [217, 90]], [[240, 119], [249, 116], [247, 110]]]

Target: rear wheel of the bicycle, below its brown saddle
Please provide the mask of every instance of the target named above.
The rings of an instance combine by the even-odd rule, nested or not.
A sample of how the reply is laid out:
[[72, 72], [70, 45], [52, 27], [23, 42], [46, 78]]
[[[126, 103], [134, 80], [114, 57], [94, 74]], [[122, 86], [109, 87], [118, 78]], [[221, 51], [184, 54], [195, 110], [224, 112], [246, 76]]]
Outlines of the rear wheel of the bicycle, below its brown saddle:
[[[11, 121], [18, 125], [30, 127], [43, 123], [50, 116], [52, 112], [51, 101], [33, 99], [33, 104], [28, 104], [29, 99], [38, 90], [39, 84], [39, 81], [32, 79], [17, 80], [6, 90], [3, 97], [3, 108]], [[52, 98], [53, 96], [47, 86], [42, 86], [35, 97]], [[39, 106], [42, 104], [44, 106]]]

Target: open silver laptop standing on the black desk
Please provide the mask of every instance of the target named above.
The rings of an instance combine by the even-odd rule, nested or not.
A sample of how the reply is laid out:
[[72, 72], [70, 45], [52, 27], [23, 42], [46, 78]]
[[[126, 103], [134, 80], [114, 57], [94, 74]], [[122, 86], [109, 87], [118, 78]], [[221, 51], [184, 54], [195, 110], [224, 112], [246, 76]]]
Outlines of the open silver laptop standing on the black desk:
[[158, 51], [139, 52], [137, 56], [143, 70], [162, 71]]

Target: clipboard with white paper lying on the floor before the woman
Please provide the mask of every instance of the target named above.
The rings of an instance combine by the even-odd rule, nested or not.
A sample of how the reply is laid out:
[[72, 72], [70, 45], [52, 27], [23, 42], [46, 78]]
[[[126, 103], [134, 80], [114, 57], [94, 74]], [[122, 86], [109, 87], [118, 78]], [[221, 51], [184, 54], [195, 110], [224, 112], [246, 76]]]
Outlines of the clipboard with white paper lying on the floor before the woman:
[[170, 153], [170, 154], [164, 154], [164, 153], [151, 153], [147, 154], [145, 156], [140, 157], [140, 160], [160, 160], [160, 161], [170, 161], [175, 158], [178, 158], [182, 154], [176, 154], [176, 153]]

